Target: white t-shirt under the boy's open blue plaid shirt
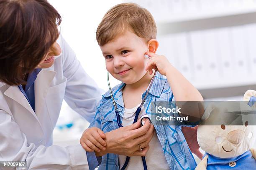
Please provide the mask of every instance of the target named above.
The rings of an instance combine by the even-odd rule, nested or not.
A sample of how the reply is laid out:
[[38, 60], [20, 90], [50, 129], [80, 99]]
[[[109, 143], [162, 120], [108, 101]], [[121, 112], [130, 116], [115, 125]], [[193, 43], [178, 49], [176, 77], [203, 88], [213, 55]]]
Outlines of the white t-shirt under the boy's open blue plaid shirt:
[[[123, 115], [123, 121], [122, 121], [123, 126], [128, 126], [133, 123], [135, 116], [133, 116], [131, 118], [125, 118], [125, 117], [130, 117], [131, 115], [133, 115], [136, 112], [138, 106], [134, 107], [132, 109], [125, 108], [124, 115]], [[144, 109], [144, 107], [142, 107], [138, 118], [140, 118], [142, 115], [145, 115], [145, 114], [146, 114], [145, 109]], [[166, 161], [166, 158], [164, 156], [164, 152], [163, 152], [161, 143], [160, 143], [159, 139], [157, 138], [156, 131], [154, 133], [152, 140], [149, 143], [149, 150], [148, 150], [148, 153], [145, 158], [146, 158], [148, 170], [168, 170], [168, 169], [170, 169], [169, 165]], [[125, 159], [126, 159], [126, 156], [119, 155], [120, 169], [123, 167], [123, 165], [125, 163]], [[131, 157], [125, 170], [143, 170], [143, 163], [142, 163], [141, 156]]]

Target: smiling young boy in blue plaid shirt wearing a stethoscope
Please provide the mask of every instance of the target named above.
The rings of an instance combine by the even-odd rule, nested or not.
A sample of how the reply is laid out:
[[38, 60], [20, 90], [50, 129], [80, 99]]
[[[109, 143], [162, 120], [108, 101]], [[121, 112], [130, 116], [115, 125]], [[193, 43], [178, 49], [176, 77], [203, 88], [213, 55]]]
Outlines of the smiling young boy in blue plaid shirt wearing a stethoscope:
[[[123, 126], [133, 123], [132, 115], [140, 105], [156, 67], [158, 72], [140, 116], [147, 114], [151, 117], [148, 111], [151, 102], [171, 102], [174, 98], [176, 101], [203, 100], [198, 90], [169, 63], [166, 57], [155, 54], [159, 45], [156, 40], [156, 24], [146, 9], [133, 3], [122, 3], [112, 7], [98, 26], [96, 36], [105, 58], [106, 69], [122, 82], [112, 91]], [[145, 54], [151, 58], [144, 57]], [[100, 128], [104, 133], [118, 128], [110, 92], [102, 95], [102, 100], [97, 105], [95, 120], [91, 122], [90, 127]], [[95, 131], [100, 133], [97, 128], [91, 128], [83, 135], [92, 136]], [[195, 169], [196, 163], [181, 127], [164, 124], [154, 128], [156, 133], [149, 143], [146, 155], [148, 169]], [[84, 149], [93, 150], [88, 149], [87, 141], [83, 143]], [[106, 154], [102, 156], [99, 169], [120, 169], [125, 163], [125, 158], [126, 156], [122, 155]], [[126, 169], [143, 169], [141, 158], [131, 157]]]

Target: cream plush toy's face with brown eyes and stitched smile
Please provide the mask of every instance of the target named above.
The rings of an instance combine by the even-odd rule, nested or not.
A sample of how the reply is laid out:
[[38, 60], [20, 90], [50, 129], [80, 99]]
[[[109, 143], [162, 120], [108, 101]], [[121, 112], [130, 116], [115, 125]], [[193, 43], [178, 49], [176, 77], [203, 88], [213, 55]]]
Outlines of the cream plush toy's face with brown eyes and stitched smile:
[[205, 152], [219, 158], [233, 158], [249, 150], [256, 141], [256, 126], [201, 125], [197, 141]]

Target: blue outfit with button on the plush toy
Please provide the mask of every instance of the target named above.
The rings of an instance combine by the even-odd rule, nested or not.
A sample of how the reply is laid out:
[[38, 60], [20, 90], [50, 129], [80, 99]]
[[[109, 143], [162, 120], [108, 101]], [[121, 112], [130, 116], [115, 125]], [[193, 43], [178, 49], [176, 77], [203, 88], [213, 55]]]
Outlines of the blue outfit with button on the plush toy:
[[[207, 170], [256, 170], [256, 160], [248, 150], [242, 155], [234, 158], [218, 158], [208, 153]], [[236, 166], [230, 167], [229, 163], [236, 162]]]

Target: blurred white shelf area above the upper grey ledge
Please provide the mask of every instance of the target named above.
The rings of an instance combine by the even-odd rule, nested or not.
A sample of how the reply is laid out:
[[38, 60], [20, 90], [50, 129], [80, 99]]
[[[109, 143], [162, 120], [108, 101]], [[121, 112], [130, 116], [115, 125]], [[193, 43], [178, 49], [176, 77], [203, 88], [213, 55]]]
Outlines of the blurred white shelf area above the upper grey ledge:
[[157, 23], [215, 18], [256, 11], [256, 0], [124, 0], [145, 7]]

